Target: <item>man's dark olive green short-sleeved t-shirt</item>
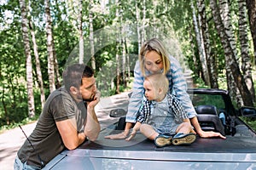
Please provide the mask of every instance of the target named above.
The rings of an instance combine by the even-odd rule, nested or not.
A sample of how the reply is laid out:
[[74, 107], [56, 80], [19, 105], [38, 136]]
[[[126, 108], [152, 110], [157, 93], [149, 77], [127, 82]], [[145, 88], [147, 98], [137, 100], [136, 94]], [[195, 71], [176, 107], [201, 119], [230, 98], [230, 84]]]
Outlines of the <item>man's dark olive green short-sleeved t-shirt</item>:
[[49, 95], [38, 123], [32, 134], [18, 151], [20, 160], [28, 165], [40, 167], [40, 156], [44, 164], [65, 149], [55, 122], [76, 118], [78, 132], [84, 131], [87, 110], [84, 102], [76, 103], [65, 88], [59, 88]]

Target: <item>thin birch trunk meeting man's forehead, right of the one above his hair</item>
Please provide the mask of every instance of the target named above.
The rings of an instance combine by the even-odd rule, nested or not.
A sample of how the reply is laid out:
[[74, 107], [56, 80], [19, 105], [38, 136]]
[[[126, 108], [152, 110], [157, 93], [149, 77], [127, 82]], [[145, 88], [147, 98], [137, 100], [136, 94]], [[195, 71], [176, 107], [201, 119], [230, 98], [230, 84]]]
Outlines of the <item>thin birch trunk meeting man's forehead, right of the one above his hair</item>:
[[90, 26], [90, 59], [91, 59], [91, 67], [95, 71], [96, 70], [96, 59], [95, 59], [95, 51], [94, 51], [94, 38], [93, 38], [93, 13], [92, 13], [92, 5], [93, 0], [90, 0], [90, 10], [89, 10], [89, 26]]

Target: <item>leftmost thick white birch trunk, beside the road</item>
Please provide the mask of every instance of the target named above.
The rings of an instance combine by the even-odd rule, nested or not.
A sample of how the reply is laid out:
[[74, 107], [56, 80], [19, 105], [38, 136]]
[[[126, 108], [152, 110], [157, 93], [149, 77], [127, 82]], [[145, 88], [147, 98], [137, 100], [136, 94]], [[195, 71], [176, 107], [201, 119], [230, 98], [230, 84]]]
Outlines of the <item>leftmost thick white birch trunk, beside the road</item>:
[[26, 0], [20, 0], [20, 11], [21, 11], [21, 27], [22, 27], [22, 37], [25, 47], [26, 54], [26, 88], [27, 88], [27, 105], [28, 105], [28, 116], [35, 116], [35, 104], [34, 104], [34, 94], [33, 94], [33, 77], [32, 77], [32, 56], [31, 48], [29, 42], [29, 31], [28, 31], [28, 20]]

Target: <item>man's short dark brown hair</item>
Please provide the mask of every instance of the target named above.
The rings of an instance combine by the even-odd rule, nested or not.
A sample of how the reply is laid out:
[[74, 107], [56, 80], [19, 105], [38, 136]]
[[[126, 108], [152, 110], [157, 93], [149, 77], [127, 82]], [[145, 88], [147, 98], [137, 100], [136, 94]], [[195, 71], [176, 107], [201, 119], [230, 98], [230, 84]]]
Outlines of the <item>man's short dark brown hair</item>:
[[88, 65], [74, 64], [67, 67], [63, 71], [63, 85], [69, 91], [71, 87], [80, 88], [82, 85], [82, 78], [93, 77], [94, 71]]

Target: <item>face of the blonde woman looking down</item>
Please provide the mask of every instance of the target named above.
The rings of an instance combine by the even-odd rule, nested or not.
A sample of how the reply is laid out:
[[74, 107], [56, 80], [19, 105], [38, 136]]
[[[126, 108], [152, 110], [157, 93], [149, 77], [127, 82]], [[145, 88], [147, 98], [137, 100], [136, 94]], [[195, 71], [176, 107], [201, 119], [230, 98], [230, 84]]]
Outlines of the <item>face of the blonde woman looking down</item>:
[[148, 71], [151, 73], [158, 73], [160, 70], [164, 68], [163, 60], [160, 54], [156, 53], [155, 51], [149, 51], [144, 56], [144, 64]]

